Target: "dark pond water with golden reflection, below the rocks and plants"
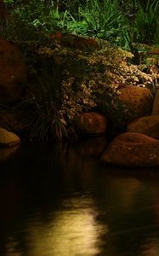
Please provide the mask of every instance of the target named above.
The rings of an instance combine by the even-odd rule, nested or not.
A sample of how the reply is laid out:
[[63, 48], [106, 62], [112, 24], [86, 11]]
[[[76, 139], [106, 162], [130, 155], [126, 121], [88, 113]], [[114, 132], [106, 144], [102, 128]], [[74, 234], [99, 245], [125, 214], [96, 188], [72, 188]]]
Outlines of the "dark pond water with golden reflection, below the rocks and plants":
[[104, 148], [0, 150], [0, 255], [159, 255], [159, 173], [101, 166]]

